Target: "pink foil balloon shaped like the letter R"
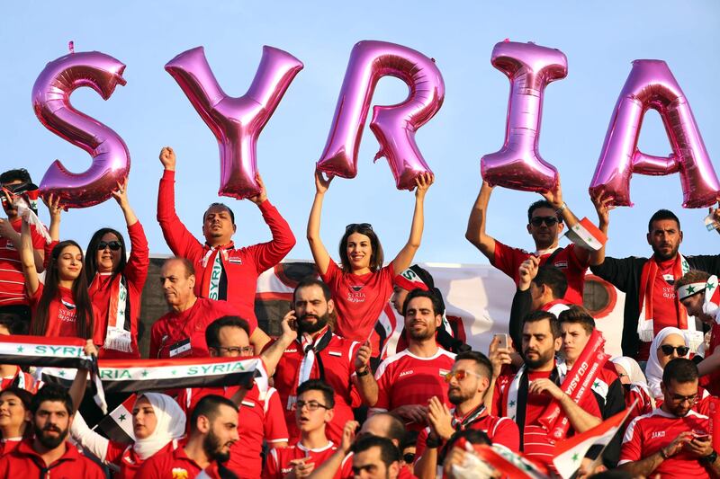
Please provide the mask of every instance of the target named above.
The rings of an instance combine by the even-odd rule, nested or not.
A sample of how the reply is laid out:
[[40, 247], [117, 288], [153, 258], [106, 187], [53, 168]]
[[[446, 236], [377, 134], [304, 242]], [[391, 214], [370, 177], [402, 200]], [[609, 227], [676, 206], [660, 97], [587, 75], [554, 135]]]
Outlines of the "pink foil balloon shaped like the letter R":
[[386, 41], [360, 41], [353, 48], [317, 168], [330, 175], [356, 177], [357, 151], [375, 85], [387, 75], [408, 84], [410, 94], [404, 102], [374, 107], [370, 129], [380, 143], [375, 160], [385, 156], [398, 190], [412, 190], [420, 174], [432, 173], [415, 143], [415, 132], [440, 110], [445, 84], [433, 59]]

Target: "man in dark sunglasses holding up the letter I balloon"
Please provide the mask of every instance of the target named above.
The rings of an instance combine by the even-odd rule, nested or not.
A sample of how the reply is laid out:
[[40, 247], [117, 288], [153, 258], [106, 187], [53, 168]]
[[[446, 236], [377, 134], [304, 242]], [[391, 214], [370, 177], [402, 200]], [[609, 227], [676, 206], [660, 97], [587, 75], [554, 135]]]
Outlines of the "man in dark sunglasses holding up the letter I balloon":
[[485, 233], [488, 221], [488, 204], [492, 187], [488, 182], [482, 182], [473, 210], [468, 219], [465, 238], [478, 248], [491, 262], [518, 284], [518, 268], [530, 256], [537, 256], [540, 264], [549, 264], [563, 271], [568, 279], [568, 289], [565, 299], [573, 304], [582, 304], [582, 288], [585, 283], [585, 271], [590, 264], [590, 250], [570, 244], [563, 248], [558, 246], [558, 240], [563, 233], [564, 226], [572, 228], [579, 223], [563, 201], [563, 192], [560, 181], [554, 191], [543, 193], [545, 200], [539, 200], [527, 209], [527, 233], [533, 236], [535, 252], [528, 253], [519, 248], [513, 248]]

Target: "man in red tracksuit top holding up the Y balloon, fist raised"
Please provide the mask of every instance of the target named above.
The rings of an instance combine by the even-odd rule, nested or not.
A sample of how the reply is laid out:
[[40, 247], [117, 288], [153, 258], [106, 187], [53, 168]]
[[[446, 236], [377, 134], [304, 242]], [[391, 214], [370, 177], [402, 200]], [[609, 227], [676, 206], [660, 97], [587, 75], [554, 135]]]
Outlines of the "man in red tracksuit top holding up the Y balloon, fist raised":
[[277, 209], [267, 200], [260, 176], [260, 193], [249, 198], [257, 205], [273, 234], [272, 241], [237, 248], [232, 236], [237, 230], [235, 214], [223, 203], [212, 203], [202, 215], [200, 243], [175, 212], [175, 152], [166, 146], [160, 151], [165, 172], [157, 191], [157, 221], [170, 250], [186, 258], [197, 271], [195, 295], [229, 301], [238, 315], [251, 323], [255, 316], [257, 277], [280, 262], [295, 245], [295, 236]]

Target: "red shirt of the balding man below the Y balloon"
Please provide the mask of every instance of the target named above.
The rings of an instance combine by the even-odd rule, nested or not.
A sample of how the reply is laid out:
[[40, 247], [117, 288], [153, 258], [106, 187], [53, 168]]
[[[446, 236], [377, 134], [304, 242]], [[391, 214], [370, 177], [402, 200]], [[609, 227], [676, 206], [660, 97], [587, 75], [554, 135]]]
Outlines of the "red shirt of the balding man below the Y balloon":
[[[190, 349], [184, 350], [173, 358], [207, 358], [210, 356], [205, 342], [205, 329], [216, 319], [232, 315], [237, 316], [238, 310], [227, 301], [215, 301], [198, 297], [195, 304], [182, 313], [170, 311], [160, 317], [152, 325], [150, 333], [150, 359], [170, 358], [170, 352], [178, 350], [178, 342], [190, 339]], [[247, 319], [250, 335], [257, 328], [257, 320]]]

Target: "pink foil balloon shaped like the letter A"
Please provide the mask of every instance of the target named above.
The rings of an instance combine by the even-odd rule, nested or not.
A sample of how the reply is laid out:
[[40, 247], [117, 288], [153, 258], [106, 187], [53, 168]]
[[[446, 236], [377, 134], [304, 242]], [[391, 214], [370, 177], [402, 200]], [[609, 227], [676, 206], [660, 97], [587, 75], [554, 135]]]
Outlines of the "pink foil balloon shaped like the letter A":
[[[660, 113], [670, 139], [671, 155], [645, 155], [637, 149], [645, 112], [651, 108]], [[633, 173], [680, 173], [685, 208], [711, 206], [720, 191], [688, 99], [662, 60], [633, 62], [610, 120], [590, 183], [590, 194], [610, 196], [611, 204], [616, 206], [632, 206], [630, 178]]]

